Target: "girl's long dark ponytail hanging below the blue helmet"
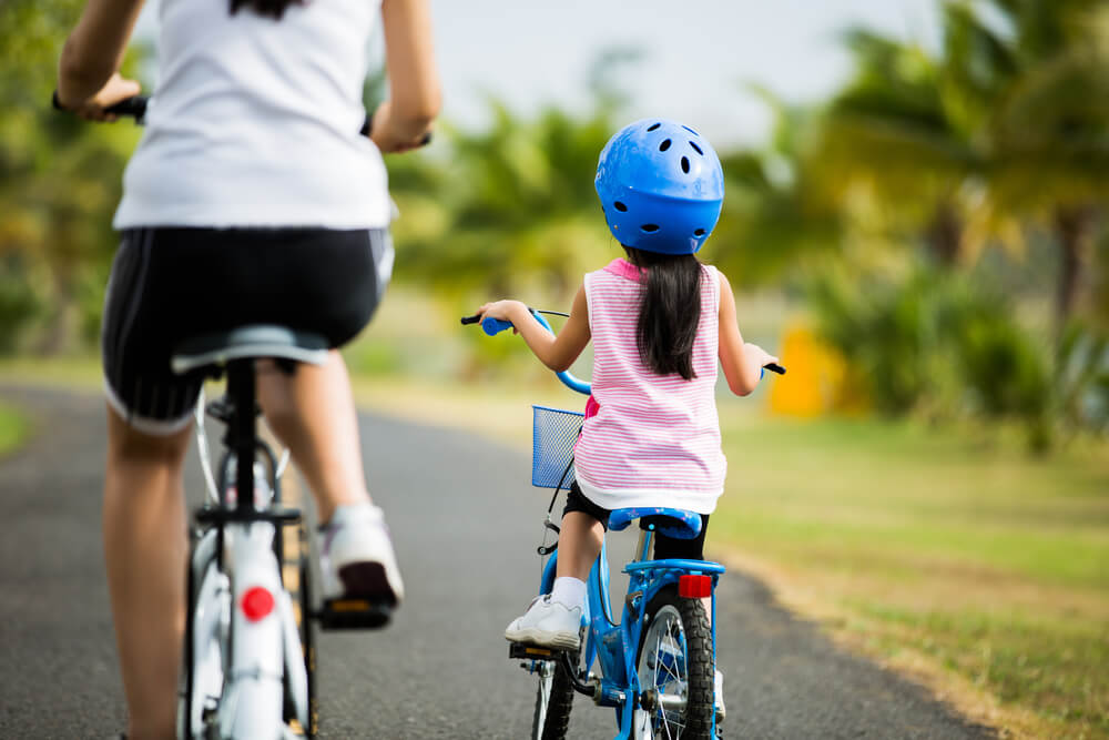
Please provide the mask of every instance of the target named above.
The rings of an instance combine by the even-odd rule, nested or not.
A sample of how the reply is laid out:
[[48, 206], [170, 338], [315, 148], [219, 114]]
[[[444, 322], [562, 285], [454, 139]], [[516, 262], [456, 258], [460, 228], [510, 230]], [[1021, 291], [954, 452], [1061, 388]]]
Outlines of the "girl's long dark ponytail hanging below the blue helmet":
[[647, 270], [635, 342], [643, 364], [659, 375], [693, 372], [693, 341], [701, 323], [701, 263], [692, 254], [659, 254], [625, 246], [628, 259]]

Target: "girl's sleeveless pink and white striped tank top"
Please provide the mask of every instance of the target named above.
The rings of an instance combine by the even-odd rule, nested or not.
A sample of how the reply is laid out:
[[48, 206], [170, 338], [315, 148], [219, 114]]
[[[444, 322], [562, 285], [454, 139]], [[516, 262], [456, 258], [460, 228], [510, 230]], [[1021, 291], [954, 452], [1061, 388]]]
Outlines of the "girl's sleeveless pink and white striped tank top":
[[669, 506], [711, 514], [724, 488], [714, 388], [720, 280], [702, 267], [695, 377], [658, 375], [639, 356], [639, 271], [625, 260], [586, 275], [593, 397], [574, 449], [581, 493], [608, 509]]

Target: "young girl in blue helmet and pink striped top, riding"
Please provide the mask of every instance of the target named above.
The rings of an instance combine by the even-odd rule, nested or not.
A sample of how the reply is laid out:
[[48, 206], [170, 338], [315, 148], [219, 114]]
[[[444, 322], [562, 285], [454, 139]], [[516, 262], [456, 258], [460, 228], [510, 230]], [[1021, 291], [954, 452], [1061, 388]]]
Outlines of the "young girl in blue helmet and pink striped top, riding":
[[745, 344], [728, 280], [695, 253], [716, 225], [720, 161], [696, 132], [661, 119], [637, 121], [601, 152], [597, 193], [627, 259], [588, 273], [554, 336], [519, 301], [479, 314], [509, 321], [539, 359], [567, 369], [593, 342], [592, 399], [574, 450], [577, 483], [562, 514], [554, 587], [512, 621], [513, 642], [577, 649], [586, 579], [609, 511], [663, 506], [701, 515], [694, 540], [659, 535], [657, 558], [703, 558], [709, 514], [726, 463], [713, 392], [716, 361], [728, 387], [751, 393], [776, 362]]

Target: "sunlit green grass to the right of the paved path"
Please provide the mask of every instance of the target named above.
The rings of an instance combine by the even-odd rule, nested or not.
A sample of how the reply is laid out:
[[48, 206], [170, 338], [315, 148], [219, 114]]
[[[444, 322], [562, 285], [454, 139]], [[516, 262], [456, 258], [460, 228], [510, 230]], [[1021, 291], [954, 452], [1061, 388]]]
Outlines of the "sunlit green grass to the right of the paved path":
[[1015, 732], [1109, 738], [1105, 444], [1038, 459], [980, 430], [722, 419], [711, 543], [872, 655], [996, 698]]

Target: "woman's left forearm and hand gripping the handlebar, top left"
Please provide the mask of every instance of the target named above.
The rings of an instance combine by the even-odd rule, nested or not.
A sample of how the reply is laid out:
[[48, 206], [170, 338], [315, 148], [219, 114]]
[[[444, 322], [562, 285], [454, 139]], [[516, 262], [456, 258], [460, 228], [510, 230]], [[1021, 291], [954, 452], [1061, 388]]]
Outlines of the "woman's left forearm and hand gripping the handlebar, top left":
[[119, 74], [143, 0], [89, 0], [58, 63], [58, 103], [81, 118], [103, 121], [104, 109], [139, 94]]

